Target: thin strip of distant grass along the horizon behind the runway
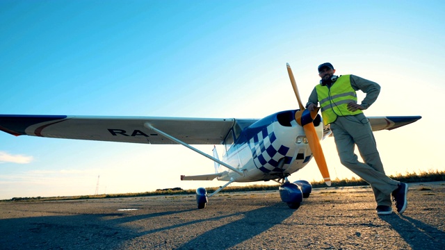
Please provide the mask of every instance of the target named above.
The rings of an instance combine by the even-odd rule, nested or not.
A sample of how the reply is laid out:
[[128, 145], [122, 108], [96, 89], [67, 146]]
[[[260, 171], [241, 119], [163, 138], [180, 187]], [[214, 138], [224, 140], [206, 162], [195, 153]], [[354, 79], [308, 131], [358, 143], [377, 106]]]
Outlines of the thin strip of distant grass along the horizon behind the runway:
[[[430, 170], [428, 172], [420, 172], [417, 174], [406, 173], [397, 174], [396, 176], [389, 176], [396, 181], [402, 181], [404, 183], [418, 183], [418, 182], [431, 182], [431, 181], [445, 181], [445, 171]], [[313, 188], [327, 188], [323, 181], [312, 181]], [[332, 181], [331, 187], [347, 187], [368, 185], [361, 178], [351, 179], [336, 179]], [[250, 191], [266, 191], [266, 190], [278, 190], [280, 185], [249, 185], [245, 187], [229, 186], [220, 192], [250, 192]], [[212, 193], [219, 187], [206, 188], [207, 193]], [[195, 194], [196, 190], [181, 190], [180, 188], [173, 188], [168, 190], [156, 190], [152, 192], [138, 192], [138, 193], [126, 193], [126, 194], [98, 194], [98, 195], [79, 195], [71, 197], [14, 197], [13, 199], [0, 200], [0, 201], [63, 201], [63, 200], [83, 200], [83, 199], [106, 199], [106, 198], [123, 198], [123, 197], [147, 197], [156, 195], [173, 195], [173, 194]], [[433, 194], [432, 194], [433, 195]]]

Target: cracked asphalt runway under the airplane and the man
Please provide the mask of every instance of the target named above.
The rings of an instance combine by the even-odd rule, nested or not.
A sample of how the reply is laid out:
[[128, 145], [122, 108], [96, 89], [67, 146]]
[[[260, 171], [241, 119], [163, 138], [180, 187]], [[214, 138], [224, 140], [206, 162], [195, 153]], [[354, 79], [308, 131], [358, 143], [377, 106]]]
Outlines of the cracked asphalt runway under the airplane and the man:
[[[1, 202], [0, 249], [445, 249], [445, 182], [410, 183], [403, 216], [369, 187], [318, 188], [298, 210], [278, 191]], [[394, 208], [395, 209], [395, 208]]]

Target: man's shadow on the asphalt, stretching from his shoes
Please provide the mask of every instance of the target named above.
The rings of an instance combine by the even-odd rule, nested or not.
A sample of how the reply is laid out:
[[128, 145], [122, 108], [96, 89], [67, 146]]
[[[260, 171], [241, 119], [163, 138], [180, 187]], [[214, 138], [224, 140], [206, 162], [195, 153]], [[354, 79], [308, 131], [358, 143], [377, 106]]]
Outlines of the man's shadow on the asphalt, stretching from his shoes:
[[[445, 232], [417, 219], [401, 215], [382, 215], [412, 249], [444, 249]], [[394, 246], [396, 247], [396, 246]]]

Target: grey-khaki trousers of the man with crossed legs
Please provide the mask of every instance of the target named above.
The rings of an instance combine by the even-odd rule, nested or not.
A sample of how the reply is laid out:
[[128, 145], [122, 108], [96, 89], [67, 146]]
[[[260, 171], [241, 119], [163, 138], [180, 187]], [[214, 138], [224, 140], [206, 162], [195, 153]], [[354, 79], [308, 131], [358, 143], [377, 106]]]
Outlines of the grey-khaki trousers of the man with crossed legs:
[[[371, 125], [365, 115], [337, 117], [330, 128], [341, 164], [371, 185], [378, 206], [391, 206], [390, 194], [397, 189], [399, 182], [385, 174]], [[364, 163], [357, 160], [355, 145]]]

